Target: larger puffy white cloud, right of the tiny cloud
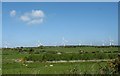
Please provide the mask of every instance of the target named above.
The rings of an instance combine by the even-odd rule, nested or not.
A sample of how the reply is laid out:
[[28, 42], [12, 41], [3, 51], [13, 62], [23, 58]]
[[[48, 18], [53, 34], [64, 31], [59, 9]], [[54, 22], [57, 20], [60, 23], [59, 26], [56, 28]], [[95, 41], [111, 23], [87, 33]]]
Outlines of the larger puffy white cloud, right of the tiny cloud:
[[20, 19], [27, 24], [40, 24], [43, 22], [44, 12], [42, 10], [32, 10], [20, 16]]

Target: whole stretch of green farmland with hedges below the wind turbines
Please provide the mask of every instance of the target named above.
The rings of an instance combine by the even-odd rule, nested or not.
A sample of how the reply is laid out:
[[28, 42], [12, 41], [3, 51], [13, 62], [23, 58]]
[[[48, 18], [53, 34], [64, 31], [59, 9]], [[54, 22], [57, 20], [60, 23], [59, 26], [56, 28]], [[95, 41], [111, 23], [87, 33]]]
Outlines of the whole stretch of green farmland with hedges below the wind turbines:
[[2, 49], [3, 74], [100, 74], [118, 46], [39, 46]]

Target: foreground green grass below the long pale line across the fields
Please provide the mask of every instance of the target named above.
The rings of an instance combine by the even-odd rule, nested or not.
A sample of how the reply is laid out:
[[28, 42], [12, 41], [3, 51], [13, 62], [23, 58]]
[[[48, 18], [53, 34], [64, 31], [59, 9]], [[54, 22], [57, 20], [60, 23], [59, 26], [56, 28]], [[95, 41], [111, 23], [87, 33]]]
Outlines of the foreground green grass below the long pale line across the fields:
[[[25, 66], [27, 65], [27, 66]], [[3, 74], [70, 74], [76, 69], [78, 74], [97, 74], [106, 62], [76, 62], [76, 63], [7, 63], [3, 64]], [[53, 66], [50, 66], [53, 65]], [[99, 66], [100, 65], [100, 66]]]

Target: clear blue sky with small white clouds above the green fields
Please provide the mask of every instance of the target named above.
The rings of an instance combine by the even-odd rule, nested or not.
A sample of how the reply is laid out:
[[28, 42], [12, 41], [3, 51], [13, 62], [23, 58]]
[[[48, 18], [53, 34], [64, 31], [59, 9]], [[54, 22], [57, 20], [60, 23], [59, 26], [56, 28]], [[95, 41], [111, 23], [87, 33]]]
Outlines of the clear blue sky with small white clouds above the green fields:
[[3, 47], [118, 42], [117, 2], [4, 2]]

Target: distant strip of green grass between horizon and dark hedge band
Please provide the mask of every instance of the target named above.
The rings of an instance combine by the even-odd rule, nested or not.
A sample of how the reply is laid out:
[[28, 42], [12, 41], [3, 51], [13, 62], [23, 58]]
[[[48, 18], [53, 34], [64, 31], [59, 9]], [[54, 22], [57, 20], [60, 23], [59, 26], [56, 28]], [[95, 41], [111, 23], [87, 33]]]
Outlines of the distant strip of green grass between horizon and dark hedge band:
[[[35, 50], [40, 50], [40, 48], [34, 48]], [[96, 47], [75, 47], [75, 48], [64, 48], [64, 47], [45, 47], [43, 48], [45, 51], [59, 51], [59, 52], [73, 52], [73, 53], [78, 53], [79, 50], [83, 50], [86, 52], [93, 52], [93, 51], [116, 51], [118, 50], [118, 47], [101, 47], [101, 48], [96, 48]]]

